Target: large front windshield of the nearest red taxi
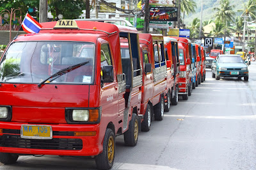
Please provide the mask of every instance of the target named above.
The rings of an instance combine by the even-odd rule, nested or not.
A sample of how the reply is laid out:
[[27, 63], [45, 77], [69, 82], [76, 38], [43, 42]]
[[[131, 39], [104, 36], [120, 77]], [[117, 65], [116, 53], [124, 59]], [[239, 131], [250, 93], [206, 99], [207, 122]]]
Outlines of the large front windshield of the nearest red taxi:
[[89, 61], [54, 83], [92, 84], [95, 45], [88, 42], [16, 42], [0, 62], [0, 82], [40, 83], [68, 66]]

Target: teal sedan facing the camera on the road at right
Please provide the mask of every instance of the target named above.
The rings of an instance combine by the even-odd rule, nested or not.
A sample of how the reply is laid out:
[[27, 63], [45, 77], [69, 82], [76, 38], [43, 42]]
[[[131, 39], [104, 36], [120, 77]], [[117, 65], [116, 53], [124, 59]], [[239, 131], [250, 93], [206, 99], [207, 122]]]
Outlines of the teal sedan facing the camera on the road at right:
[[248, 81], [249, 71], [246, 61], [234, 54], [219, 55], [212, 63], [212, 78], [220, 80], [220, 77], [244, 77], [244, 81]]

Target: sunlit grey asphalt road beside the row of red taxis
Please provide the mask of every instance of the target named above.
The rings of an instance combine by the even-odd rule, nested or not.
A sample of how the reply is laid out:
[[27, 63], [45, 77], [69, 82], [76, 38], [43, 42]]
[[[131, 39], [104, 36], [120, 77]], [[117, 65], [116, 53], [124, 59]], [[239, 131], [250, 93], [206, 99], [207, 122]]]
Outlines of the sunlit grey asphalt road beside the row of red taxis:
[[[135, 147], [116, 137], [113, 169], [256, 169], [256, 62], [249, 81], [211, 78], [193, 89], [187, 101], [152, 121]], [[94, 160], [19, 157], [0, 169], [95, 169]]]

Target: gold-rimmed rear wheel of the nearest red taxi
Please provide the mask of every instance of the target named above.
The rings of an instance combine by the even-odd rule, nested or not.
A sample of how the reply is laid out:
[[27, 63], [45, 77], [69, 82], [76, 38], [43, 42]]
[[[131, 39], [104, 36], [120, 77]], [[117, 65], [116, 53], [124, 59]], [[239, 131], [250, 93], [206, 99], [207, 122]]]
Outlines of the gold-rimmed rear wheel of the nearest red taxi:
[[139, 121], [136, 113], [132, 113], [132, 120], [129, 122], [129, 129], [124, 132], [124, 143], [127, 146], [135, 146], [138, 142]]

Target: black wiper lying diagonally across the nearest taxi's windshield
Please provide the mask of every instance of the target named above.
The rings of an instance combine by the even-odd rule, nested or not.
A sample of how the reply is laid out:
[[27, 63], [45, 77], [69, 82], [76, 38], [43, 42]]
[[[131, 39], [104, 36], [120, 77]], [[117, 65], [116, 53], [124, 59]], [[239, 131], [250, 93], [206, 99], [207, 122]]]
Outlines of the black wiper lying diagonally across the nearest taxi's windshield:
[[[83, 63], [79, 63], [77, 65], [73, 65], [73, 66], [68, 66], [67, 68], [63, 68], [62, 70], [50, 75], [47, 79], [45, 79], [44, 81], [40, 82], [37, 86], [38, 88], [40, 88], [42, 86], [42, 84], [44, 84], [46, 81], [48, 81], [49, 79], [52, 79], [54, 77], [56, 77], [55, 79], [57, 79], [58, 77], [60, 77], [61, 75], [71, 72], [72, 70], [75, 70], [77, 68], [79, 68], [80, 66], [86, 65], [87, 63], [89, 63], [89, 61], [83, 62]], [[54, 81], [55, 79], [52, 79], [51, 81]], [[51, 82], [49, 81], [49, 82]]]

